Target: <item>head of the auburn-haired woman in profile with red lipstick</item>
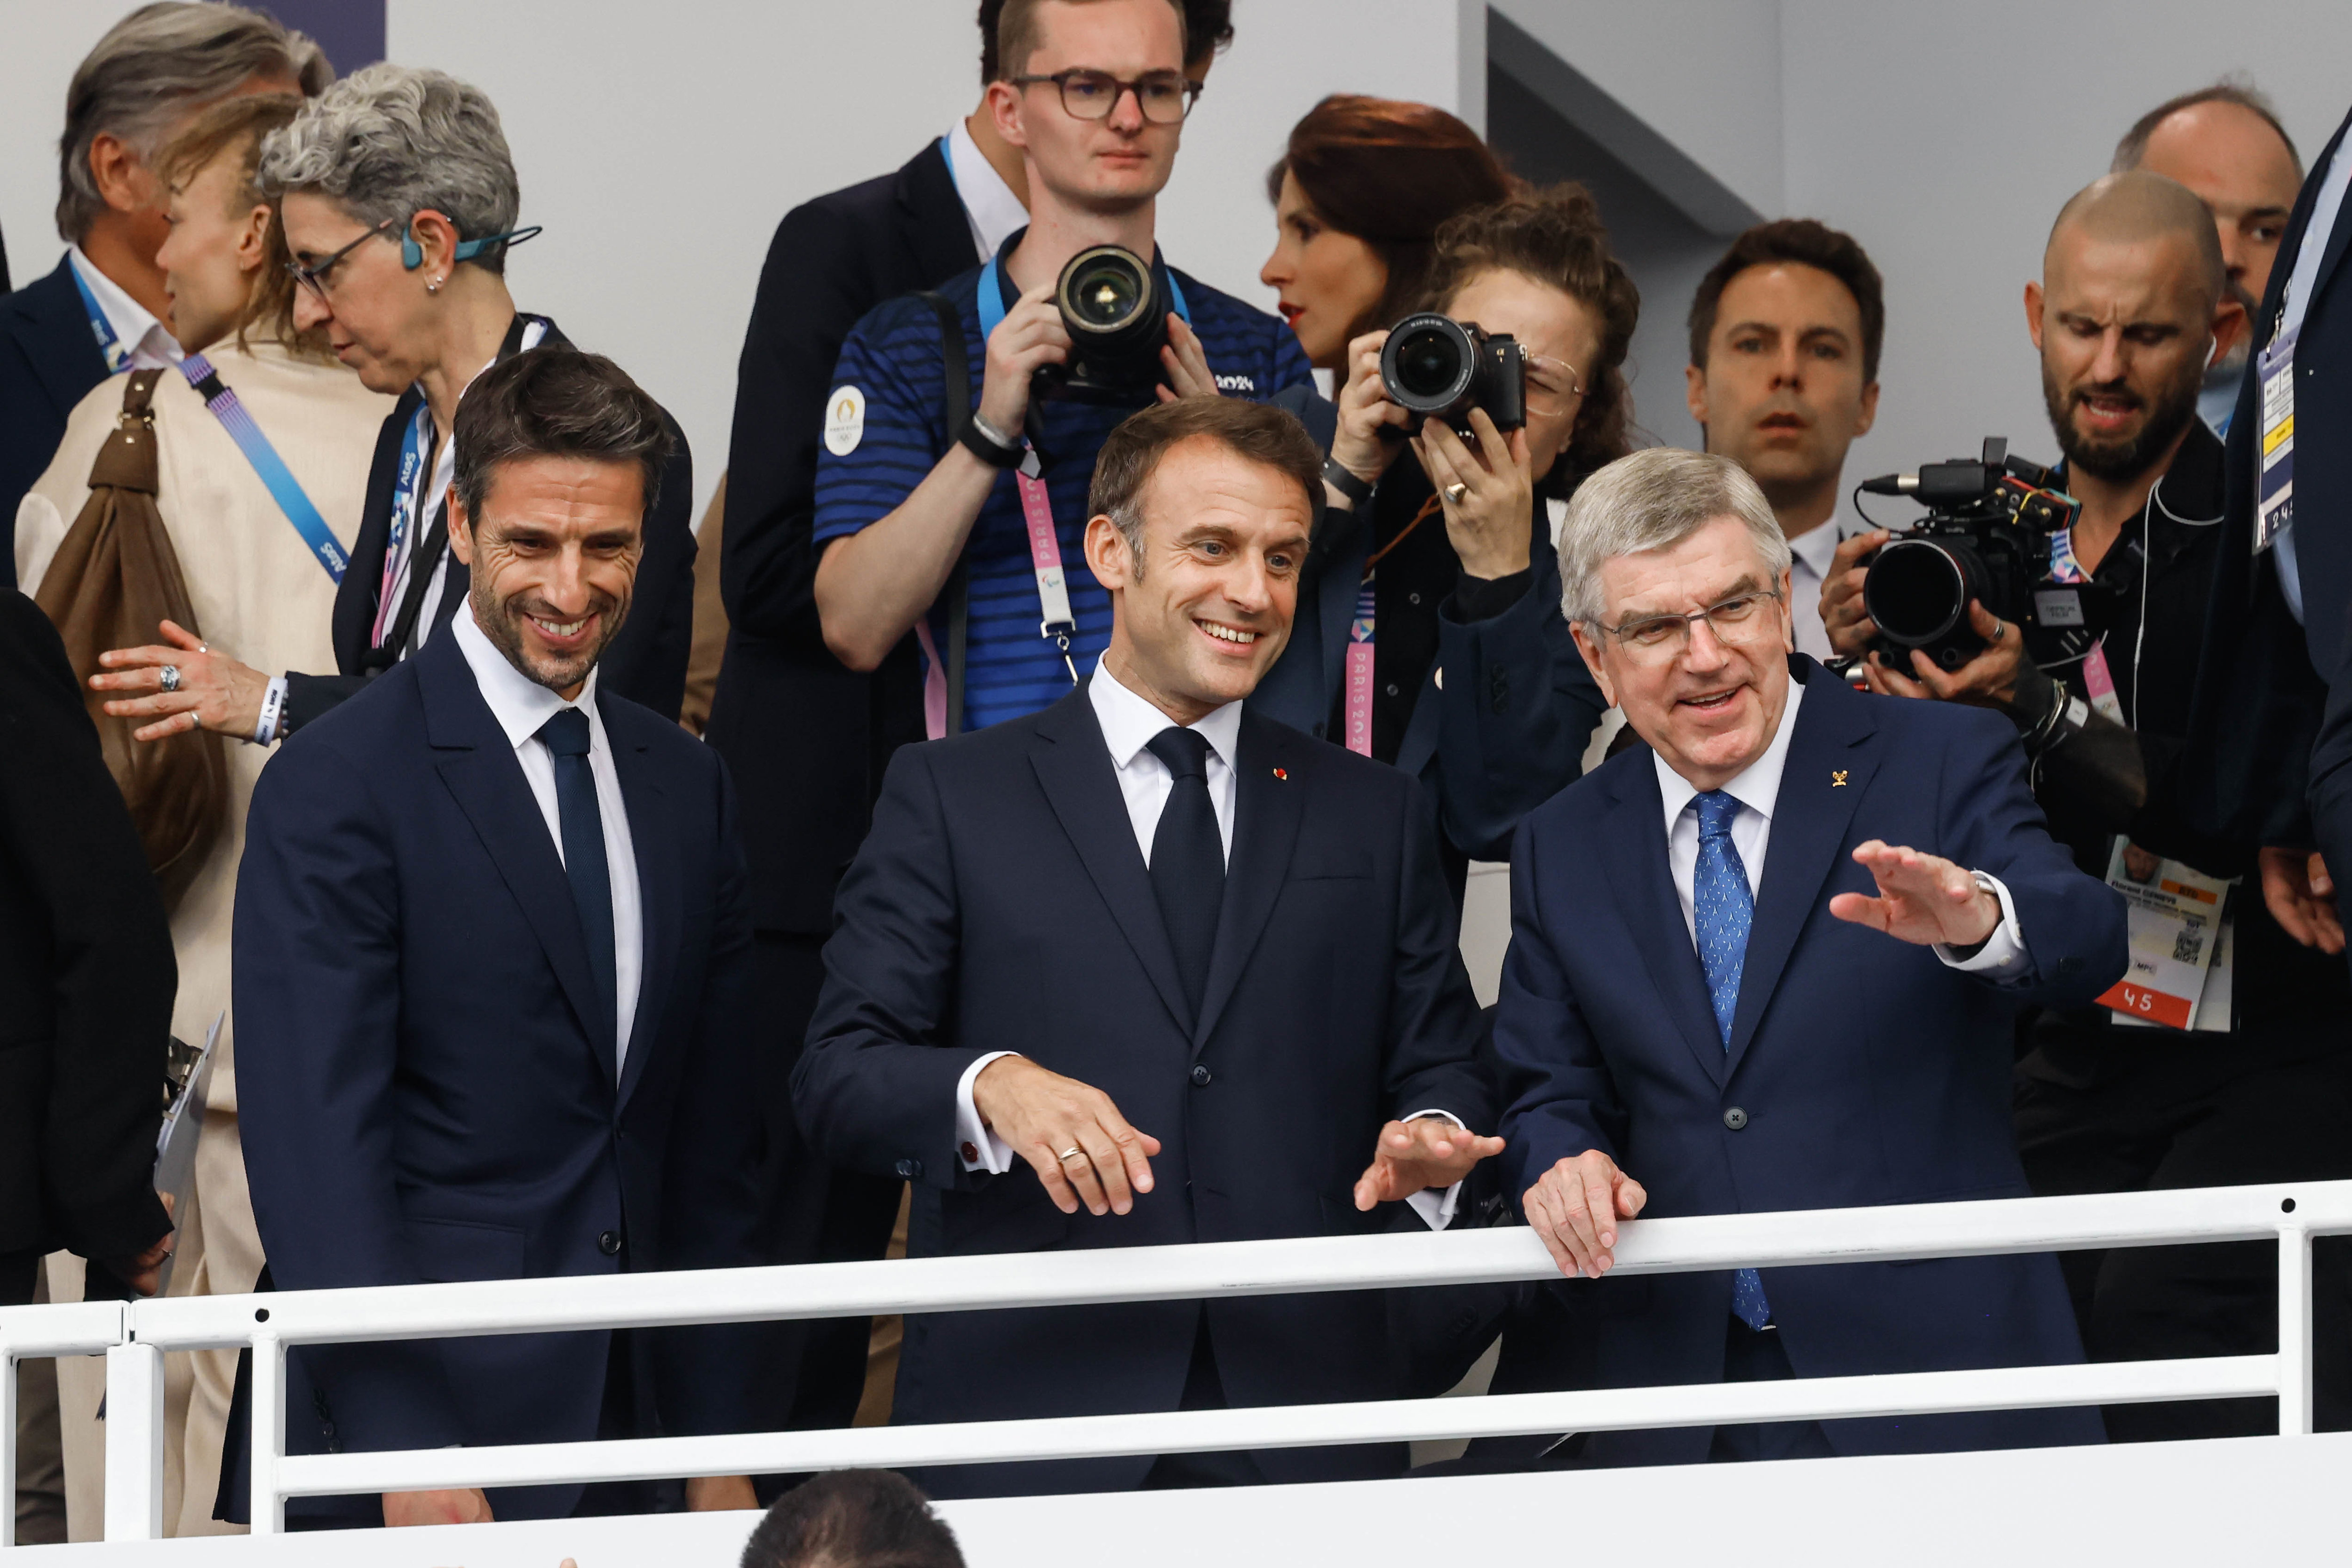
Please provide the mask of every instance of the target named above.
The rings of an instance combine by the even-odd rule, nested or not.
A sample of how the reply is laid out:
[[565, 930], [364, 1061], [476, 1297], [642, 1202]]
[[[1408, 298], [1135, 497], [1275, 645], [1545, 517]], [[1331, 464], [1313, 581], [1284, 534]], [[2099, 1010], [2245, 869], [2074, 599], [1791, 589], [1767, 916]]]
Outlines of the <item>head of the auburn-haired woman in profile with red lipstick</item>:
[[1279, 292], [1308, 362], [1345, 381], [1348, 343], [1402, 317], [1428, 289], [1437, 226], [1501, 202], [1510, 186], [1477, 132], [1446, 110], [1331, 94], [1265, 172], [1275, 254], [1258, 282]]

